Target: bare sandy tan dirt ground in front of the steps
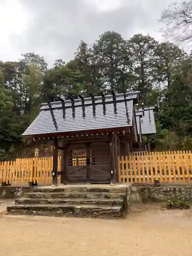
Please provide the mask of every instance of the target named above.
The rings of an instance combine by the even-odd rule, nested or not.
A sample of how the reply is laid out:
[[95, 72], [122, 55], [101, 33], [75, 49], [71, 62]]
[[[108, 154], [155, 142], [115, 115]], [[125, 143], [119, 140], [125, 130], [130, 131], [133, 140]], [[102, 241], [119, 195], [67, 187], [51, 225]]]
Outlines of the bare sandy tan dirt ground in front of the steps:
[[192, 255], [192, 210], [135, 206], [126, 219], [0, 215], [0, 255]]

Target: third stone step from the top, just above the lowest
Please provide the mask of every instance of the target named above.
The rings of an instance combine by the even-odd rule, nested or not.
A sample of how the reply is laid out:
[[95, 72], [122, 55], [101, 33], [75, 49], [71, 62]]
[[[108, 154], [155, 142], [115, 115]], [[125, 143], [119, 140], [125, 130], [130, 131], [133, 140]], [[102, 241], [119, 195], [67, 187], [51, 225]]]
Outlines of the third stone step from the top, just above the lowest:
[[68, 204], [68, 205], [108, 205], [108, 206], [116, 206], [123, 205], [123, 199], [87, 199], [87, 198], [56, 198], [56, 199], [47, 199], [47, 198], [18, 198], [15, 199], [15, 204]]

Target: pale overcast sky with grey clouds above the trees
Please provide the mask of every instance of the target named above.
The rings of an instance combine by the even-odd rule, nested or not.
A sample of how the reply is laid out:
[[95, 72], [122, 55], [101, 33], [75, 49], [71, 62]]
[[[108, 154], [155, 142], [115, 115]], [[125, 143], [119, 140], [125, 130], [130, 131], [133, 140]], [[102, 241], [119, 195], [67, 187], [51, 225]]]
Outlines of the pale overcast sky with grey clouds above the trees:
[[174, 0], [0, 0], [0, 59], [34, 51], [49, 65], [74, 56], [81, 39], [93, 44], [104, 31], [162, 40], [161, 11]]

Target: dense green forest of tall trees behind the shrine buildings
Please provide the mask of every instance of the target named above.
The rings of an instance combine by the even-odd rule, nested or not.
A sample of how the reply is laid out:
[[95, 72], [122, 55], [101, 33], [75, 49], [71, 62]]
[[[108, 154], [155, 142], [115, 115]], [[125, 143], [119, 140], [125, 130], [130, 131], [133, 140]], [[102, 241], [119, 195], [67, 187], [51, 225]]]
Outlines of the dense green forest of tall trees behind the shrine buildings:
[[[114, 31], [101, 34], [89, 47], [81, 41], [69, 62], [49, 68], [43, 56], [23, 54], [0, 61], [0, 160], [22, 154], [29, 143], [22, 133], [39, 113], [40, 103], [111, 90], [141, 92], [145, 105], [156, 105], [154, 151], [192, 148], [192, 53], [150, 35], [130, 39]], [[33, 145], [31, 145], [33, 146]]]

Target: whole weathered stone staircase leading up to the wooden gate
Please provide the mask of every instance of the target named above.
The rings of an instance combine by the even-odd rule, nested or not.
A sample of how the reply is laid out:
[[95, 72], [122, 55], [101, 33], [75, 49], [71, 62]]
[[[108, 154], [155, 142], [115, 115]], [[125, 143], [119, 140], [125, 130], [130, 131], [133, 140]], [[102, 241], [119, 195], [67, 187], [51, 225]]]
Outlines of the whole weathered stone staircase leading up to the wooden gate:
[[124, 217], [129, 210], [129, 186], [85, 185], [35, 187], [7, 214], [65, 217]]

